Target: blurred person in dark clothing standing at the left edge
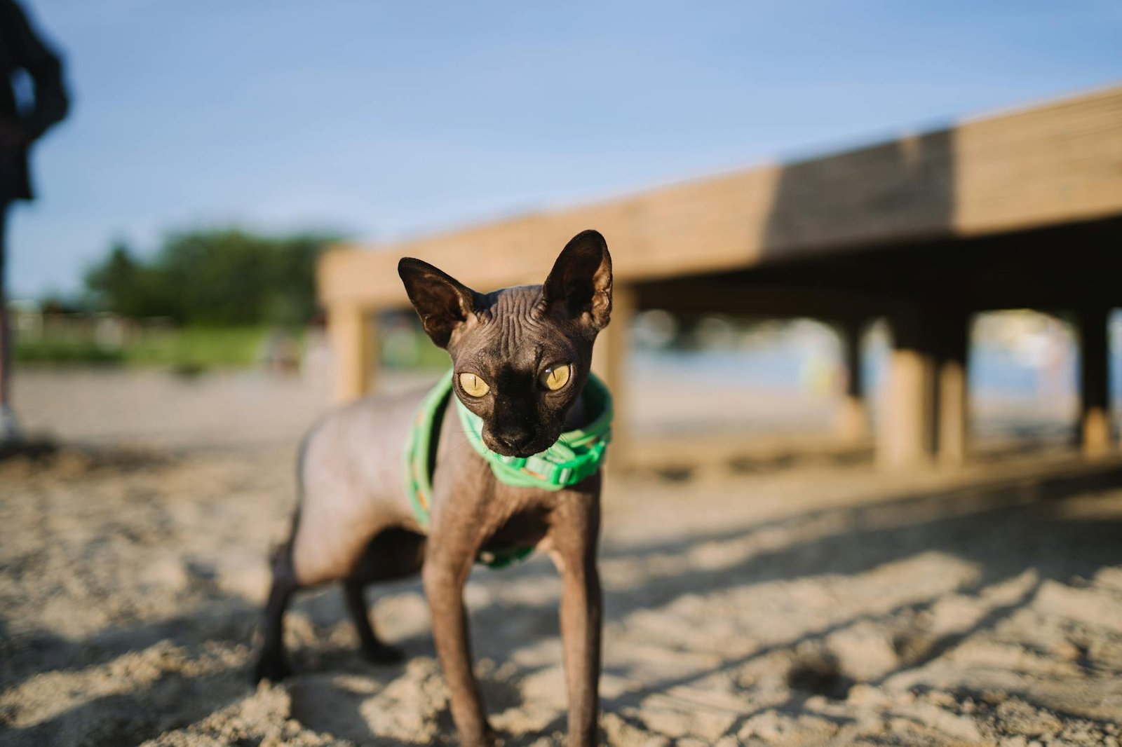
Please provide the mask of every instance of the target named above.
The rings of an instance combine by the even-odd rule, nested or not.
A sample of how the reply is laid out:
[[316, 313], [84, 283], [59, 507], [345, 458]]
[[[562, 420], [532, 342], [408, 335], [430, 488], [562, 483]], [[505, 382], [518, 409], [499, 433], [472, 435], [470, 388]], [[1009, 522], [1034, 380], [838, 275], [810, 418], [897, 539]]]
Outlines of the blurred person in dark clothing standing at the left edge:
[[[17, 75], [30, 79], [30, 101], [17, 99]], [[26, 96], [20, 96], [25, 98]], [[8, 206], [31, 200], [27, 153], [39, 137], [66, 116], [63, 68], [13, 0], [0, 0], [0, 443], [19, 439], [11, 411], [11, 339], [4, 293], [4, 234]]]

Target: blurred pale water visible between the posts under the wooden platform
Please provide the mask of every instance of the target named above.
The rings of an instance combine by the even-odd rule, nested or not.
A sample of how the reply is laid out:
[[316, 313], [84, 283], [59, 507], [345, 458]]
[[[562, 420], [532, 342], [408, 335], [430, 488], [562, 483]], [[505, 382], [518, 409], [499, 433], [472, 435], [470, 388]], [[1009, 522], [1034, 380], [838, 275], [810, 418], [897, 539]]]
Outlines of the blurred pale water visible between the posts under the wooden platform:
[[[1115, 419], [1122, 419], [1122, 313], [1114, 314], [1110, 331], [1112, 402]], [[874, 325], [865, 335], [862, 356], [874, 418], [889, 350], [888, 329]], [[968, 371], [976, 432], [1066, 437], [1078, 407], [1078, 365], [1074, 332], [1060, 320], [1021, 311], [978, 315]], [[719, 403], [730, 393], [751, 390], [818, 411], [824, 403], [836, 402], [845, 381], [836, 334], [809, 321], [765, 342], [727, 335], [720, 344], [699, 349], [641, 347], [634, 351], [632, 371], [638, 388], [650, 391], [674, 382], [682, 390], [708, 393]], [[798, 407], [790, 409], [797, 415]]]

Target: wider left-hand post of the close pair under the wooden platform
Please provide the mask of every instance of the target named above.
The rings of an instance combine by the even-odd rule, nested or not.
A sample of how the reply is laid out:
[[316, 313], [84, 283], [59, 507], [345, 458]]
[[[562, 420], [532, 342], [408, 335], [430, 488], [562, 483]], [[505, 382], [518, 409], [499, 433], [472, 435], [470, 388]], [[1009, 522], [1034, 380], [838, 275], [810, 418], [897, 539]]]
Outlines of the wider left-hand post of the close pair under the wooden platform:
[[889, 469], [930, 463], [935, 450], [936, 356], [918, 312], [892, 320], [889, 386], [876, 433], [876, 461]]

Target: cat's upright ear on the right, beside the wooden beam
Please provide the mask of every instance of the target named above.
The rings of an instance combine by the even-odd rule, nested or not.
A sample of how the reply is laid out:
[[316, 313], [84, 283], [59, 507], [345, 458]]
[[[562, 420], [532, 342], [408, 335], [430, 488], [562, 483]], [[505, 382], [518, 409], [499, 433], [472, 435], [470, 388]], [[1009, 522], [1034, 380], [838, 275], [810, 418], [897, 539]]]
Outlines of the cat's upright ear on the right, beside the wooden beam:
[[611, 255], [599, 231], [581, 231], [565, 245], [542, 286], [542, 311], [574, 320], [596, 334], [611, 317]]

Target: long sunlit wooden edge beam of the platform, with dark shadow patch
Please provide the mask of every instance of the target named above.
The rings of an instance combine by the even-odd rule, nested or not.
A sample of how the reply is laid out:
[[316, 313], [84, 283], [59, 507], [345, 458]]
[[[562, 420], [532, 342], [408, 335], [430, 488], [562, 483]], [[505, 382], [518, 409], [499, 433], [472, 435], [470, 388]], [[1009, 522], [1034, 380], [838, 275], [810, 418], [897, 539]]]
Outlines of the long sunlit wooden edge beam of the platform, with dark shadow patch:
[[320, 297], [403, 305], [403, 256], [485, 292], [540, 283], [564, 242], [587, 228], [607, 237], [617, 279], [638, 283], [1119, 214], [1122, 87], [787, 166], [431, 238], [341, 247], [321, 261]]

